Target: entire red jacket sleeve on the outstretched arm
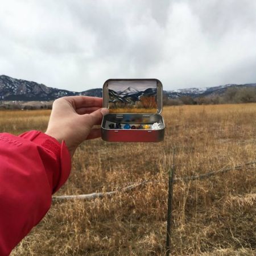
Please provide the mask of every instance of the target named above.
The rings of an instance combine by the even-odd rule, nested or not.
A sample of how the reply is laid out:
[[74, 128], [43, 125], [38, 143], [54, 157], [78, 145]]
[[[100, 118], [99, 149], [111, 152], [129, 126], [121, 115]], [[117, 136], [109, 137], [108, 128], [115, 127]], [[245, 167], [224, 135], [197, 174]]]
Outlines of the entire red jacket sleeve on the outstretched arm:
[[40, 131], [0, 133], [0, 255], [11, 250], [51, 206], [68, 179], [71, 156], [63, 141]]

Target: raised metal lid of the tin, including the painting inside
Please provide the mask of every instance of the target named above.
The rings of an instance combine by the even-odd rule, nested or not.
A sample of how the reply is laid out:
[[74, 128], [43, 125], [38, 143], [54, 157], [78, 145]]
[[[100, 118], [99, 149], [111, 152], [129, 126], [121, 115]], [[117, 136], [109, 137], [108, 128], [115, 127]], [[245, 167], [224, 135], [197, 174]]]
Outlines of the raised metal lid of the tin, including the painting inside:
[[163, 85], [158, 79], [109, 79], [102, 94], [109, 113], [160, 114], [163, 109]]

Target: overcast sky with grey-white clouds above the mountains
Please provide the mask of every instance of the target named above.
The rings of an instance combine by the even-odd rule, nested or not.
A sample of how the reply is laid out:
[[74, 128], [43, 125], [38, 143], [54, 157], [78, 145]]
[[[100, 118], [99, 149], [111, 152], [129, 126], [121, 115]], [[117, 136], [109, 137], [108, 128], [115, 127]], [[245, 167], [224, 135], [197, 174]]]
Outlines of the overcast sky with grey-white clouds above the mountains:
[[0, 75], [75, 91], [256, 82], [256, 1], [1, 1]]

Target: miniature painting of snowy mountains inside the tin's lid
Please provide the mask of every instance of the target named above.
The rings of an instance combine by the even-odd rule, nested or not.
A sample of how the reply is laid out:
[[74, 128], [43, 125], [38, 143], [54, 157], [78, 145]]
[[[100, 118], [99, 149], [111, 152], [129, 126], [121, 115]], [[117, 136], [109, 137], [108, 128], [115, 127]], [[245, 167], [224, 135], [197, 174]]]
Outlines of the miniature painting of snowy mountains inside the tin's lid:
[[156, 113], [156, 80], [109, 81], [110, 113]]

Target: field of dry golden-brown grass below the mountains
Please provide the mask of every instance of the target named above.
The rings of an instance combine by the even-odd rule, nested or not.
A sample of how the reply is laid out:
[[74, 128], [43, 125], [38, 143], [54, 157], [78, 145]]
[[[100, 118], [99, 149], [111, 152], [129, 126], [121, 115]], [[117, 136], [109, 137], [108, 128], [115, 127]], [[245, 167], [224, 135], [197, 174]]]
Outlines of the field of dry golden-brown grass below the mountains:
[[[47, 110], [2, 111], [0, 131], [46, 130]], [[164, 255], [168, 170], [206, 174], [256, 160], [256, 104], [170, 106], [160, 143], [86, 141], [57, 195], [107, 192], [93, 200], [53, 201], [15, 255]], [[174, 185], [172, 255], [256, 255], [256, 164]], [[28, 216], [29, 217], [29, 216]]]

